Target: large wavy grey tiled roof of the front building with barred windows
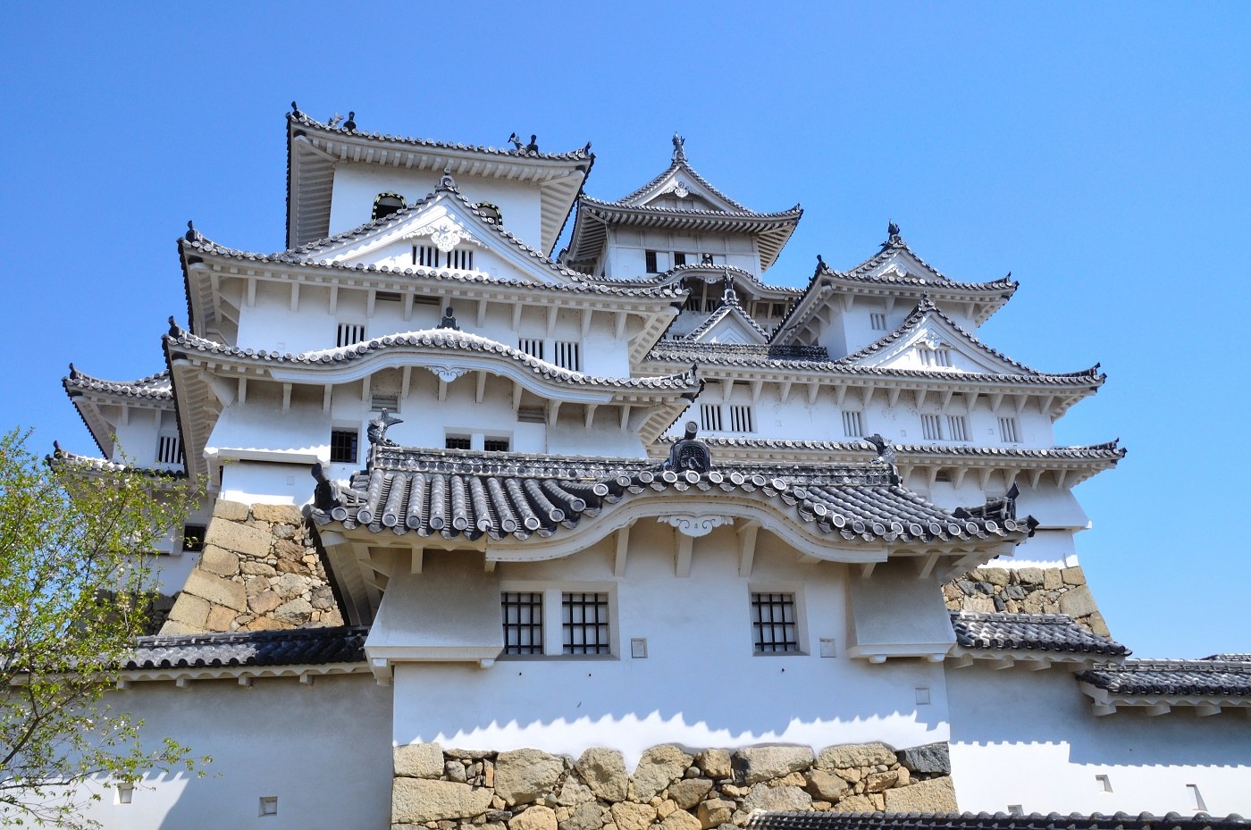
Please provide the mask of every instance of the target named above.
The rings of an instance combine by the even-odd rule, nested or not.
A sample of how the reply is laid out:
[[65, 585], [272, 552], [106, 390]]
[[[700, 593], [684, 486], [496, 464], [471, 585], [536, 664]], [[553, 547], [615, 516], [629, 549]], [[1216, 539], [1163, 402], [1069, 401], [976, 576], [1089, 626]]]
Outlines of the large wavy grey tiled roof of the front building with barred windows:
[[[442, 459], [442, 461], [440, 461]], [[482, 464], [494, 465], [495, 472]], [[578, 475], [590, 472], [592, 475]], [[708, 472], [676, 472], [648, 461], [604, 461], [549, 456], [510, 464], [507, 454], [390, 450], [352, 480], [350, 495], [318, 524], [343, 522], [374, 532], [389, 529], [444, 538], [550, 536], [575, 526], [583, 515], [638, 494], [754, 494], [778, 502], [809, 530], [863, 541], [1015, 540], [1026, 521], [957, 519], [898, 484], [889, 468], [843, 465], [717, 466]]]

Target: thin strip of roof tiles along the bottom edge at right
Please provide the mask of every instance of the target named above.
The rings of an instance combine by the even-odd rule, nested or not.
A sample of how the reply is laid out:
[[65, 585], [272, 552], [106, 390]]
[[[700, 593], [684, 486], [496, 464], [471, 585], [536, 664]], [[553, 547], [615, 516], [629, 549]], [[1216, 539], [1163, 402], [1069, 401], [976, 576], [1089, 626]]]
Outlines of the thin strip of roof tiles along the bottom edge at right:
[[1071, 812], [757, 812], [748, 830], [1247, 830], [1240, 815]]

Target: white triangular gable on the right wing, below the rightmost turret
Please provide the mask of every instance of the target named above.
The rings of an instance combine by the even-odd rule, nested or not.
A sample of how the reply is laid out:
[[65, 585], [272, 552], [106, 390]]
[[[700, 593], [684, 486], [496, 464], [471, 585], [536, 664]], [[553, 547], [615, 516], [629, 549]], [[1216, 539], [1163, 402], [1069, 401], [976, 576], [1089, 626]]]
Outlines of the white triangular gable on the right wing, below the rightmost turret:
[[921, 300], [898, 329], [838, 362], [879, 369], [993, 375], [1040, 374], [983, 344], [940, 311], [928, 298]]

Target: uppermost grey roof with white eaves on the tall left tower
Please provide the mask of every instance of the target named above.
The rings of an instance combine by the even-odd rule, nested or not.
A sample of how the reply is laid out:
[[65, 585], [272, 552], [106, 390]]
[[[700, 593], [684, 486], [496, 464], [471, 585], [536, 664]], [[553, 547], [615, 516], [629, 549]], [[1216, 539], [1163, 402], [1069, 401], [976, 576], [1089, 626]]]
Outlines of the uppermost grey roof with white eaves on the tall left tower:
[[[294, 109], [294, 108], [293, 108]], [[303, 245], [329, 234], [334, 168], [377, 164], [453, 175], [507, 178], [540, 192], [543, 250], [550, 251], [569, 209], [590, 174], [590, 144], [568, 152], [537, 152], [330, 126], [298, 109], [286, 116], [286, 244]]]

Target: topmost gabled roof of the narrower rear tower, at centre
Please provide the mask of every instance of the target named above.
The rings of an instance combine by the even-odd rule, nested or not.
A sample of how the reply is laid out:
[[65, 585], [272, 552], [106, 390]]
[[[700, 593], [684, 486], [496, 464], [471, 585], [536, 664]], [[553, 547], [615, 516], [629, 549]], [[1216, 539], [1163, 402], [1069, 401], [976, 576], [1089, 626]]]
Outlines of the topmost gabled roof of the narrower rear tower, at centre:
[[[674, 228], [704, 234], [749, 234], [757, 236], [761, 270], [767, 270], [794, 232], [803, 210], [799, 205], [777, 212], [756, 212], [734, 201], [696, 172], [687, 161], [678, 136], [673, 139], [673, 160], [658, 176], [615, 201], [587, 195], [578, 198], [573, 234], [564, 259], [587, 266], [603, 251], [607, 241], [605, 224], [620, 226]], [[688, 194], [702, 196], [712, 209], [661, 208], [649, 204], [656, 198], [673, 192], [682, 199]], [[593, 219], [587, 219], [587, 218]]]

